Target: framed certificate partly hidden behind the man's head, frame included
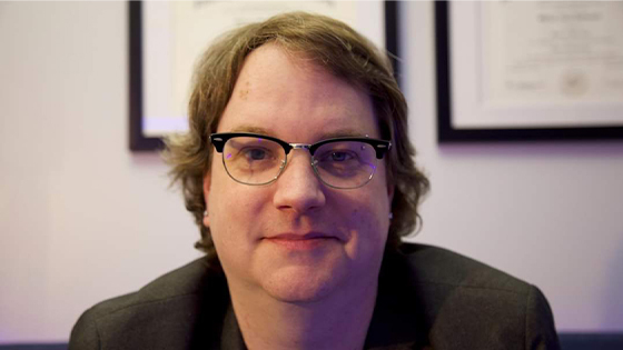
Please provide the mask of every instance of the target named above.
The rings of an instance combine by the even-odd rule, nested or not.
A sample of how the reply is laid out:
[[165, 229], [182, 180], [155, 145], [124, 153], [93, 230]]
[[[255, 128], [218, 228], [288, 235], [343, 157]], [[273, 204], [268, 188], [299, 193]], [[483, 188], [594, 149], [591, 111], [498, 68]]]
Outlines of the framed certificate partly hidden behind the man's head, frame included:
[[219, 34], [277, 13], [303, 10], [350, 24], [397, 54], [396, 2], [129, 1], [130, 150], [156, 150], [187, 130], [195, 60]]

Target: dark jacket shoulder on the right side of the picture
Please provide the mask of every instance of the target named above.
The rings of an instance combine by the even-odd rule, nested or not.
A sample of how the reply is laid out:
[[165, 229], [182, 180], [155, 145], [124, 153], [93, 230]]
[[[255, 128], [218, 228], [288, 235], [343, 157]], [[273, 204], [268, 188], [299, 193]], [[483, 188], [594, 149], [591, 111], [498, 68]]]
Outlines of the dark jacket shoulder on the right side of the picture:
[[388, 260], [385, 280], [426, 324], [434, 348], [558, 349], [552, 311], [535, 286], [432, 246], [404, 244]]

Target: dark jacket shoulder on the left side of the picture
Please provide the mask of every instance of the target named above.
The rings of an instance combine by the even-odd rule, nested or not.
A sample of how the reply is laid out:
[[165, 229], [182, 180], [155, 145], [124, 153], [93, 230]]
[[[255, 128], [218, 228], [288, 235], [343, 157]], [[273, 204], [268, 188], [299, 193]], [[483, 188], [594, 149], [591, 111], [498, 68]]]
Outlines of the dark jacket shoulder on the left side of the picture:
[[227, 298], [225, 279], [205, 258], [198, 259], [87, 310], [73, 327], [69, 348], [138, 349], [149, 343], [162, 348], [166, 342], [176, 348], [177, 342], [189, 341], [201, 311], [211, 307], [212, 314], [220, 313], [222, 302], [216, 299]]

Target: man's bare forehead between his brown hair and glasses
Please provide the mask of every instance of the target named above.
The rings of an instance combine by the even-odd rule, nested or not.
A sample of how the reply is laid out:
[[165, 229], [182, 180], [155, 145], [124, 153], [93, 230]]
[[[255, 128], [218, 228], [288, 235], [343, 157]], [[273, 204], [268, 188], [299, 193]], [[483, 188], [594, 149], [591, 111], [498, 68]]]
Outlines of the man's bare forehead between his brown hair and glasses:
[[247, 57], [218, 126], [219, 132], [253, 130], [296, 142], [337, 134], [379, 137], [364, 89], [275, 43]]

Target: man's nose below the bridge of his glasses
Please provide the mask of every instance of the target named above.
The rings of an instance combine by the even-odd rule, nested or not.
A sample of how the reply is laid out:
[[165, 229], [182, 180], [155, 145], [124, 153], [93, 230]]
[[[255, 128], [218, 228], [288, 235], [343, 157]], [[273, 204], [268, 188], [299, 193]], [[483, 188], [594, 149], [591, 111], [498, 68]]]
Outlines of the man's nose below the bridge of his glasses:
[[277, 189], [273, 201], [277, 209], [301, 214], [325, 204], [323, 183], [316, 178], [310, 162], [307, 151], [294, 151], [288, 154], [286, 169], [275, 182]]

